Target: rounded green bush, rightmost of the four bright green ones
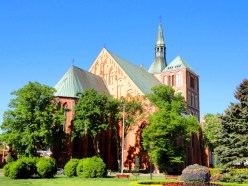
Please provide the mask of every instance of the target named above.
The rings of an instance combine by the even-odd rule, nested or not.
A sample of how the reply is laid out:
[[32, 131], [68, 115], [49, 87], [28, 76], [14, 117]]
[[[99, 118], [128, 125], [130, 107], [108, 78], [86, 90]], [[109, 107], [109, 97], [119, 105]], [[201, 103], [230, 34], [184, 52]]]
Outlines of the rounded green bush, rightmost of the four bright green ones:
[[106, 164], [100, 157], [86, 158], [83, 161], [83, 172], [84, 178], [100, 178], [107, 175]]

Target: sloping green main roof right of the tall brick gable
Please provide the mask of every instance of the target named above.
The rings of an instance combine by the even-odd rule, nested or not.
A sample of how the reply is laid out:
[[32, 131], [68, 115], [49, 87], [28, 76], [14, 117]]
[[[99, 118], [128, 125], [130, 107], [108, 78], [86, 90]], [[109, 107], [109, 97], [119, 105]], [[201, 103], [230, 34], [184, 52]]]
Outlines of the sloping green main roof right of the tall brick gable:
[[144, 94], [151, 93], [151, 88], [160, 84], [159, 80], [157, 80], [153, 74], [147, 72], [143, 65], [135, 66], [111, 52], [109, 52], [109, 54], [115, 59], [115, 61]]

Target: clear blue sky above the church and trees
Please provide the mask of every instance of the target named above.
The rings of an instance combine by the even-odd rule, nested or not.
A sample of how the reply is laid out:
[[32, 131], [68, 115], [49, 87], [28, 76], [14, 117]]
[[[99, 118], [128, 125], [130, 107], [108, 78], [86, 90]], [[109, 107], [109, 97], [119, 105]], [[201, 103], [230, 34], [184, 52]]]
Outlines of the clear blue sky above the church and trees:
[[[0, 0], [0, 123], [13, 90], [55, 86], [74, 64], [88, 70], [101, 49], [147, 68], [159, 17], [167, 61], [200, 76], [200, 109], [223, 113], [248, 72], [246, 0]], [[74, 62], [72, 62], [74, 59]]]

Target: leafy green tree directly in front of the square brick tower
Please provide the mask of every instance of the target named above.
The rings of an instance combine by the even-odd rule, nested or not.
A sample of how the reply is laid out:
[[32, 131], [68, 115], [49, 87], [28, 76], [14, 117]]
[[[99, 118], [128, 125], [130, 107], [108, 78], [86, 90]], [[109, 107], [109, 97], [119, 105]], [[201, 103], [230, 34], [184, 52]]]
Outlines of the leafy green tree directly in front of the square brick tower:
[[182, 163], [191, 133], [198, 131], [197, 119], [186, 115], [187, 109], [181, 94], [167, 85], [157, 85], [147, 97], [158, 107], [150, 117], [150, 124], [142, 133], [143, 146], [160, 168]]

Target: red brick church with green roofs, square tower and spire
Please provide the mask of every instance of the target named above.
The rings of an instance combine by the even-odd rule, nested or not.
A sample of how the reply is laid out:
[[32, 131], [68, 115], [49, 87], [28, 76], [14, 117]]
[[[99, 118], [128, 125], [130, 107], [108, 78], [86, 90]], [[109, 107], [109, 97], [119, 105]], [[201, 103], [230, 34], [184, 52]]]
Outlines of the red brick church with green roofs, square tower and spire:
[[[172, 86], [176, 93], [181, 93], [184, 96], [189, 112], [199, 120], [199, 76], [181, 56], [177, 56], [171, 63], [167, 62], [166, 44], [161, 23], [158, 27], [154, 53], [154, 61], [149, 69], [143, 65], [134, 65], [106, 48], [101, 50], [88, 71], [72, 66], [55, 86], [57, 90], [55, 96], [64, 108], [69, 109], [69, 112], [65, 113], [64, 131], [70, 134], [70, 128], [73, 125], [73, 107], [78, 99], [77, 93], [92, 88], [100, 93], [112, 95], [114, 98], [126, 97], [127, 95], [139, 98], [151, 93], [153, 86], [167, 84]], [[147, 115], [155, 110], [152, 107], [144, 109]], [[147, 120], [139, 121], [125, 137], [125, 169], [134, 167], [137, 155], [139, 156], [140, 168], [148, 169], [149, 167], [149, 157], [141, 145], [142, 128], [146, 124], [149, 124]], [[199, 138], [199, 135], [192, 136], [186, 164], [204, 164]], [[109, 169], [117, 169], [118, 167], [117, 149], [114, 143], [116, 142], [113, 141], [111, 132], [102, 133], [101, 155]], [[94, 155], [92, 152], [90, 137], [62, 143], [58, 145], [57, 149], [53, 149], [55, 158], [64, 162], [70, 158], [92, 156]]]

